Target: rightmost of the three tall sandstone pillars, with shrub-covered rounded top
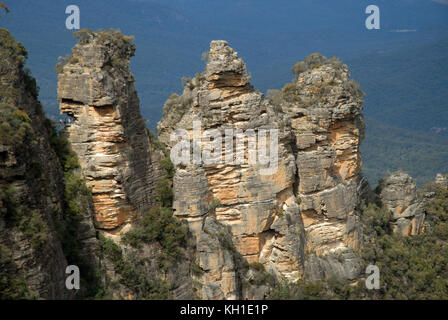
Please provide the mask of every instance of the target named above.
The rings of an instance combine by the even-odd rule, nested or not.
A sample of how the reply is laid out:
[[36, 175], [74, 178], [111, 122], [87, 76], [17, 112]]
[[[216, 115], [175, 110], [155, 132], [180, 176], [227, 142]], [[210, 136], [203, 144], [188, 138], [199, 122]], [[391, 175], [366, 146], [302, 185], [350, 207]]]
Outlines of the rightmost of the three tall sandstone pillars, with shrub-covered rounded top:
[[[366, 184], [360, 174], [362, 92], [350, 80], [347, 66], [334, 58], [313, 54], [296, 68], [297, 82], [283, 89], [286, 101], [282, 107], [291, 118], [296, 138], [295, 193], [307, 234], [306, 250], [317, 256], [339, 256], [321, 262], [320, 268], [316, 267], [317, 257], [310, 259], [314, 267], [306, 268], [307, 275], [316, 278], [317, 272], [353, 279], [353, 270], [359, 266], [352, 249], [361, 245], [357, 207]], [[347, 260], [350, 267], [330, 260]], [[334, 272], [338, 269], [347, 271]], [[310, 270], [315, 272], [310, 274]]]

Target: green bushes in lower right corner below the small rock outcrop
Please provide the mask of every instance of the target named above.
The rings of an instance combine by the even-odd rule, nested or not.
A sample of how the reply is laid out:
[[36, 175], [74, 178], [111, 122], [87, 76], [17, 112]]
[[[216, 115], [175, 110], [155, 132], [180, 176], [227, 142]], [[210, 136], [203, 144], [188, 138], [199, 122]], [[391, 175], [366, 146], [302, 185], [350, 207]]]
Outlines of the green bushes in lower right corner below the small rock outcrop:
[[[375, 299], [448, 299], [448, 191], [431, 185], [435, 197], [426, 206], [424, 233], [402, 237], [385, 223], [384, 210], [368, 207], [363, 216], [373, 217], [375, 243], [365, 246], [362, 257], [366, 264], [380, 269], [380, 290], [366, 290]], [[382, 227], [381, 227], [382, 226]], [[361, 285], [363, 286], [363, 285]]]

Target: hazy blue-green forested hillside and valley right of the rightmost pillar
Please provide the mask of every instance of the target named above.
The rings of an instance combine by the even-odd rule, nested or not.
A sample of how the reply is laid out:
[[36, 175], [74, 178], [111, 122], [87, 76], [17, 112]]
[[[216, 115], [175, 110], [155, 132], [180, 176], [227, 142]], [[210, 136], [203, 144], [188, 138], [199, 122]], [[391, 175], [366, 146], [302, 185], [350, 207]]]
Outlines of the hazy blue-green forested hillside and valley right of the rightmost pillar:
[[347, 64], [367, 94], [362, 150], [369, 181], [401, 168], [422, 185], [448, 172], [448, 38]]

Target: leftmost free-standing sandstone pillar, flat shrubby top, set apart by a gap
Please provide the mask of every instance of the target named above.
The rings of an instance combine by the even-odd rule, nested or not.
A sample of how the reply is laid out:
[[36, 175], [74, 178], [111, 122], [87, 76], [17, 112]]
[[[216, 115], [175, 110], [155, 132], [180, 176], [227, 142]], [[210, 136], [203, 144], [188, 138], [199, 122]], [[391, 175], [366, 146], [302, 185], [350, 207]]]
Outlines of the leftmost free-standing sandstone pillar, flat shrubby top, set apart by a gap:
[[87, 33], [58, 76], [69, 141], [93, 194], [95, 224], [112, 230], [152, 204], [151, 151], [129, 59], [117, 32]]

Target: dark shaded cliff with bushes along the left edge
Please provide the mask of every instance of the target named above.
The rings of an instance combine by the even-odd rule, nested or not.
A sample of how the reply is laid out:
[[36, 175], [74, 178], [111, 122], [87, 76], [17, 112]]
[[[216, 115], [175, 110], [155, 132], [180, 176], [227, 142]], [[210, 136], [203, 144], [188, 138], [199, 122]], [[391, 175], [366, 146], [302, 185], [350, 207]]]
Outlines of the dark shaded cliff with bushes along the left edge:
[[63, 214], [63, 172], [34, 79], [22, 69], [25, 57], [25, 49], [0, 30], [0, 278], [7, 286], [1, 293], [24, 285], [27, 293], [16, 298], [69, 299], [67, 261], [55, 228]]

